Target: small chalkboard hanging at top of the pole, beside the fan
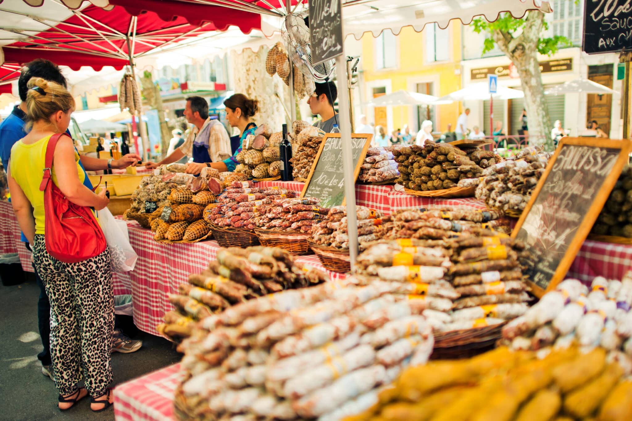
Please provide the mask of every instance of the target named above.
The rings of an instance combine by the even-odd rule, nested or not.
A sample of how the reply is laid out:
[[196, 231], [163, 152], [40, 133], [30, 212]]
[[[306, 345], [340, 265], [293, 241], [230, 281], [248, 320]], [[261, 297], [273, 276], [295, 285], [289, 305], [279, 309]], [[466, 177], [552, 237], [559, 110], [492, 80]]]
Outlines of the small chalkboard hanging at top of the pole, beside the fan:
[[312, 64], [343, 54], [343, 19], [340, 0], [310, 0]]

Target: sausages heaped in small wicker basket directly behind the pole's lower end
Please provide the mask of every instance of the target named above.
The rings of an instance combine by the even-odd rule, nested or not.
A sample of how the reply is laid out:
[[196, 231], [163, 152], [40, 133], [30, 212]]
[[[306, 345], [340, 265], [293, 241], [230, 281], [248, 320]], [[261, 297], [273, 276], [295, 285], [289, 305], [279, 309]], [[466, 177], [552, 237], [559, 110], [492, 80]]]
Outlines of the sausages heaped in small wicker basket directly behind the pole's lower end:
[[[360, 244], [379, 240], [385, 232], [382, 226], [382, 212], [356, 206], [358, 218], [358, 241]], [[312, 228], [312, 241], [323, 246], [337, 249], [349, 248], [349, 234], [347, 232], [346, 206], [334, 206], [329, 210], [322, 222]]]

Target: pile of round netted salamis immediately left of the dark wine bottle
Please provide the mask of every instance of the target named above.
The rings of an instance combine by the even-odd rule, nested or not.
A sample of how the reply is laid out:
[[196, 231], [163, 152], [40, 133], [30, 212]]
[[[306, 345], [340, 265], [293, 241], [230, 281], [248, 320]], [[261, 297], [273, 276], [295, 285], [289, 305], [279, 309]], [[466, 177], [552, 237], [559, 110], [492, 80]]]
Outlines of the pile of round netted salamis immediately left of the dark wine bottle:
[[279, 161], [279, 144], [281, 133], [272, 133], [267, 124], [261, 124], [255, 134], [248, 134], [241, 145], [241, 152], [236, 160], [240, 164], [235, 172], [245, 174], [248, 178], [265, 179], [281, 174]]

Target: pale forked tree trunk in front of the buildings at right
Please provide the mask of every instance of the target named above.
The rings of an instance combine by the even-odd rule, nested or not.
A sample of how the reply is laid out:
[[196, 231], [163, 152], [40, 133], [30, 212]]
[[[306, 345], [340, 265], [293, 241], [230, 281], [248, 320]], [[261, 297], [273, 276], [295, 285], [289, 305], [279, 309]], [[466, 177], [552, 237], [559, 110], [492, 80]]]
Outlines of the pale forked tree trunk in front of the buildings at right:
[[538, 43], [543, 30], [544, 13], [530, 11], [526, 16], [525, 27], [518, 37], [514, 38], [510, 33], [500, 30], [495, 30], [492, 37], [502, 52], [511, 59], [520, 75], [520, 83], [525, 92], [530, 145], [545, 145], [546, 150], [553, 150], [549, 107], [544, 98], [542, 73], [538, 62]]

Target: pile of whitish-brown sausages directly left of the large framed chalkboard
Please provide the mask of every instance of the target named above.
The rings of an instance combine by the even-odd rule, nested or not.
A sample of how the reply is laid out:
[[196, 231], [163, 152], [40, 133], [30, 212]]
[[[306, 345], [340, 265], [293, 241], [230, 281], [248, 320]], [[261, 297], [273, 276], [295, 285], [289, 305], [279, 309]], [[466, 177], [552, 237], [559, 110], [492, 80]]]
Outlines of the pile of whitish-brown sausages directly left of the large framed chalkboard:
[[522, 212], [551, 155], [539, 152], [518, 156], [520, 160], [514, 158], [488, 167], [481, 177], [459, 181], [459, 187], [477, 186], [477, 199], [484, 200], [491, 208]]

